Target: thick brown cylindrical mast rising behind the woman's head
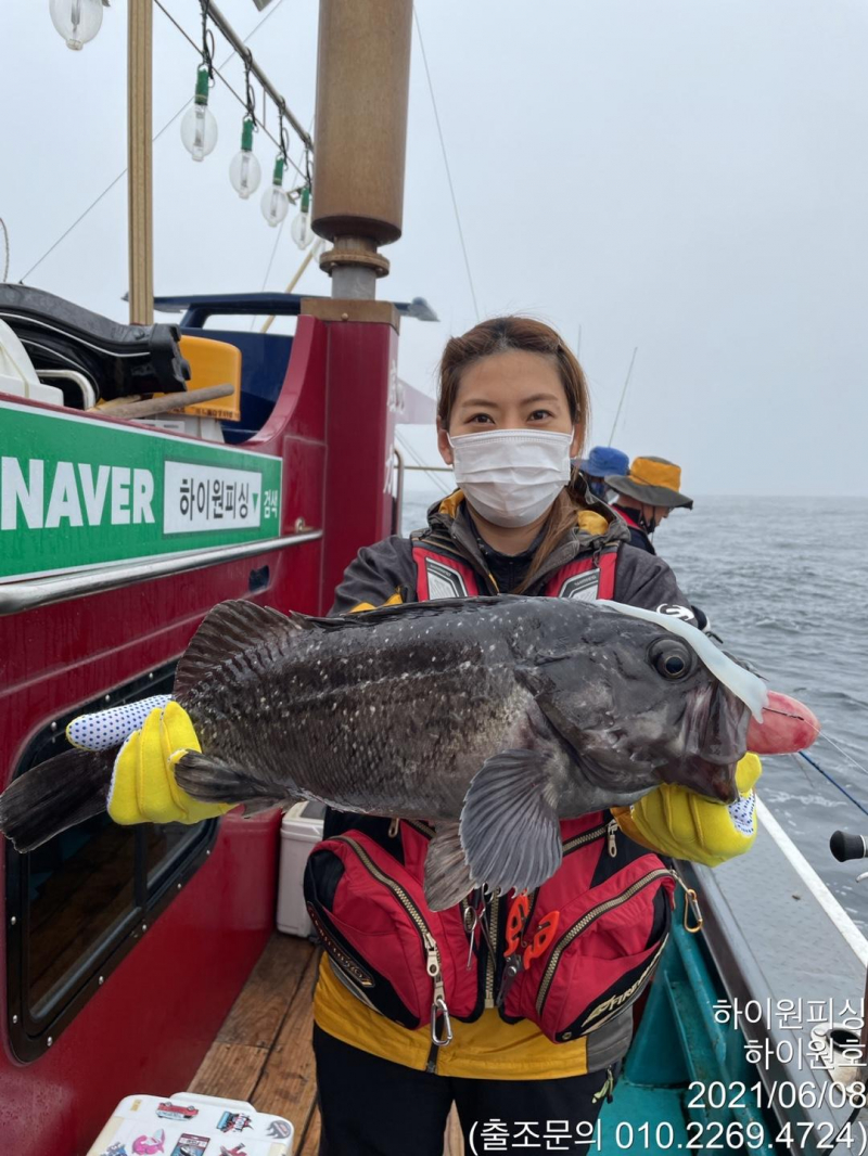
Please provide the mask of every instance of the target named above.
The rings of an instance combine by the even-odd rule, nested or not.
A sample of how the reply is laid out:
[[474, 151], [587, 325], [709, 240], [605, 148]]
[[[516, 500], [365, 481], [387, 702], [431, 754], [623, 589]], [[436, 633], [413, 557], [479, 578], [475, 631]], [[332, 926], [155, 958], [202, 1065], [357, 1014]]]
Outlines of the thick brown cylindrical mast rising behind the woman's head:
[[375, 296], [400, 237], [412, 0], [321, 0], [314, 229], [332, 297]]

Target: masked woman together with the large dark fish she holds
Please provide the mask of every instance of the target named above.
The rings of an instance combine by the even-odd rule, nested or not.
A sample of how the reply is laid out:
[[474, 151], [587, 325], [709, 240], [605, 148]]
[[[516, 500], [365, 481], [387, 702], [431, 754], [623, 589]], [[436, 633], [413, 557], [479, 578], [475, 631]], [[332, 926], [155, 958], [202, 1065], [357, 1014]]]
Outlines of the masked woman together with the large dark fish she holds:
[[665, 563], [571, 479], [588, 412], [549, 326], [498, 318], [450, 340], [437, 436], [459, 489], [424, 531], [360, 551], [336, 595], [347, 617], [223, 603], [176, 701], [119, 754], [123, 720], [100, 742], [100, 716], [71, 725], [79, 747], [116, 749], [60, 756], [65, 816], [38, 795], [51, 764], [0, 800], [22, 850], [106, 802], [119, 822], [341, 808], [304, 884], [326, 949], [328, 1156], [439, 1156], [453, 1103], [477, 1146], [510, 1150], [546, 1121], [587, 1138], [667, 941], [659, 853], [746, 851], [745, 750], [812, 738], [792, 703], [786, 725], [764, 717], [759, 680], [694, 629]]

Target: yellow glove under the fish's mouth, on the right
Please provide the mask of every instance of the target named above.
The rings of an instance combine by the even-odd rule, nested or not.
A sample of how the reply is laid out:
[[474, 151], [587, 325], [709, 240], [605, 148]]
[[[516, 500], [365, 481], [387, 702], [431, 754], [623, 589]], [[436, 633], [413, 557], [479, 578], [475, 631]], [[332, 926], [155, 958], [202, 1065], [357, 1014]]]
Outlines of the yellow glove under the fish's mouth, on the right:
[[632, 807], [613, 807], [621, 831], [635, 843], [672, 859], [716, 867], [744, 854], [757, 837], [753, 784], [763, 764], [753, 754], [738, 763], [737, 802], [714, 802], [677, 783], [662, 783]]

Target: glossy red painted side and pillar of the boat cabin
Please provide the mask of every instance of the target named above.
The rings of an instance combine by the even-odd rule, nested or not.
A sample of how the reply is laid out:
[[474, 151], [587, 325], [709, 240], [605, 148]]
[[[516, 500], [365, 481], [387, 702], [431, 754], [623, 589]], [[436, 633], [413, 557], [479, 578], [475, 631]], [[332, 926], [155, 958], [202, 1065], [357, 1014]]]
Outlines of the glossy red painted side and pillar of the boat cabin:
[[[270, 568], [257, 601], [328, 609], [359, 547], [391, 528], [396, 356], [389, 326], [301, 318], [280, 399], [245, 444], [284, 458], [281, 532], [303, 519], [321, 541], [0, 617], [0, 786], [54, 718], [177, 658], [212, 606], [248, 595], [252, 570]], [[186, 1085], [271, 934], [277, 853], [277, 813], [228, 816], [208, 861], [41, 1059], [14, 1059], [3, 1016], [3, 1153], [83, 1154], [124, 1096]], [[5, 968], [16, 931], [0, 927]]]

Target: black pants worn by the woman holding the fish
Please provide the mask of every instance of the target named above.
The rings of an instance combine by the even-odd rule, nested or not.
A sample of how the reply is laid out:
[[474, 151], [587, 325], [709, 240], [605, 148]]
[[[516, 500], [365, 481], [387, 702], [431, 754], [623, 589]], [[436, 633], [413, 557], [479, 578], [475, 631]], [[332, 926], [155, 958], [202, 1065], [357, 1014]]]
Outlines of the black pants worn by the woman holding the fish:
[[[468, 1154], [471, 1132], [480, 1154], [598, 1150], [596, 1138], [584, 1144], [576, 1139], [591, 1136], [605, 1099], [606, 1072], [561, 1080], [439, 1076], [381, 1060], [316, 1027], [314, 1052], [319, 1156], [442, 1156], [453, 1102]], [[616, 1079], [619, 1068], [612, 1067]]]

